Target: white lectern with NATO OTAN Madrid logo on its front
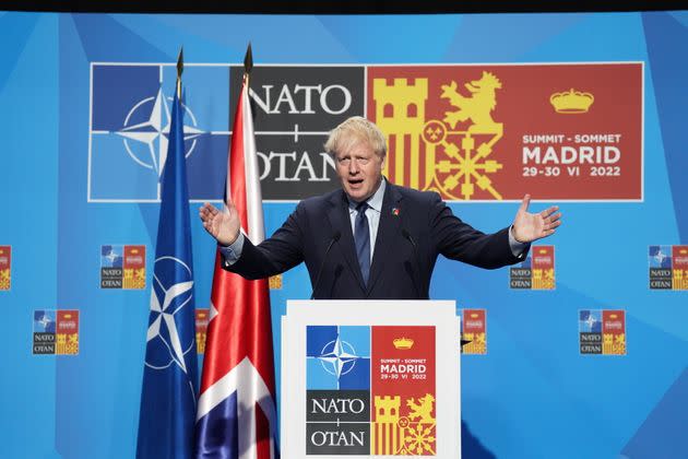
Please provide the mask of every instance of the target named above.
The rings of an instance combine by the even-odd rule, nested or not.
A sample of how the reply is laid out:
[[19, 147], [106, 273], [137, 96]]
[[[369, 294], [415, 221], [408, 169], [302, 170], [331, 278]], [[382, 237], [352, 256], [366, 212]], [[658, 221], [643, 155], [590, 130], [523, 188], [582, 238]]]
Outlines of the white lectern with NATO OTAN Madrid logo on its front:
[[290, 301], [285, 458], [461, 458], [460, 318], [449, 301]]

